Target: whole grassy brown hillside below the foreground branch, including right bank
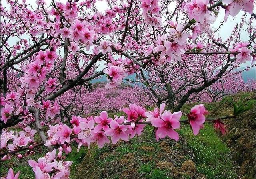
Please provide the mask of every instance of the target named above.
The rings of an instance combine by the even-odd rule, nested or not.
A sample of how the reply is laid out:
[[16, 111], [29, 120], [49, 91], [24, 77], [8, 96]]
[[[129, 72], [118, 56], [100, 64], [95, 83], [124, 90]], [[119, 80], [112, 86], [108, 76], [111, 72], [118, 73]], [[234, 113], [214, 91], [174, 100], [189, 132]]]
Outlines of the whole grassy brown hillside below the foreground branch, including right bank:
[[[232, 102], [255, 103], [254, 93], [228, 96], [208, 103], [209, 116], [232, 113]], [[194, 104], [182, 108], [184, 114]], [[226, 120], [230, 132], [220, 136], [208, 123], [194, 136], [183, 124], [180, 141], [155, 141], [148, 126], [142, 136], [103, 149], [92, 147], [76, 168], [84, 179], [252, 179], [255, 176], [255, 105], [237, 119]], [[227, 145], [228, 144], [228, 145]], [[228, 147], [230, 146], [230, 148]], [[240, 166], [238, 166], [238, 164]]]

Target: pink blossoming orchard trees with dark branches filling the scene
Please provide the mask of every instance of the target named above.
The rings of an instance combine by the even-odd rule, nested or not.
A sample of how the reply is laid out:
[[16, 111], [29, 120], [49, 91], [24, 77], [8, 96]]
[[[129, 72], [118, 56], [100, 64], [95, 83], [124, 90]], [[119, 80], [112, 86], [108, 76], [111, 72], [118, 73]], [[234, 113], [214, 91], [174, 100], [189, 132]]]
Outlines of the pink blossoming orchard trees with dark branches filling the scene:
[[[211, 85], [225, 80], [241, 63], [252, 61], [253, 66], [254, 0], [107, 0], [104, 12], [97, 10], [96, 0], [37, 0], [36, 8], [26, 0], [4, 2], [0, 7], [1, 159], [26, 157], [39, 146], [47, 147], [44, 157], [28, 161], [36, 179], [69, 177], [72, 161], [64, 161], [64, 153], [71, 152], [71, 142], [78, 144], [78, 151], [92, 143], [102, 148], [140, 135], [146, 125], [154, 126], [156, 140], [168, 136], [177, 141], [181, 122], [190, 124], [197, 135], [205, 121], [225, 132], [221, 119], [235, 118], [236, 114], [206, 118], [208, 112], [200, 104], [180, 120], [180, 108], [196, 93], [215, 89]], [[216, 38], [219, 27], [211, 27], [222, 9], [223, 27], [227, 18], [244, 13], [225, 41]], [[248, 41], [240, 41], [241, 31]], [[106, 68], [97, 71], [100, 63]], [[85, 117], [84, 101], [95, 105], [107, 100], [99, 94], [95, 101], [95, 95], [86, 94], [92, 79], [105, 75], [107, 91], [134, 73], [154, 95], [149, 103], [155, 100], [160, 108], [146, 111], [130, 104], [123, 109], [126, 117], [110, 118], [106, 111]], [[135, 98], [145, 102], [143, 95]], [[119, 105], [109, 100], [108, 105]], [[17, 124], [22, 131], [8, 130]], [[36, 133], [41, 141], [34, 140]], [[6, 178], [18, 175], [10, 169]]]

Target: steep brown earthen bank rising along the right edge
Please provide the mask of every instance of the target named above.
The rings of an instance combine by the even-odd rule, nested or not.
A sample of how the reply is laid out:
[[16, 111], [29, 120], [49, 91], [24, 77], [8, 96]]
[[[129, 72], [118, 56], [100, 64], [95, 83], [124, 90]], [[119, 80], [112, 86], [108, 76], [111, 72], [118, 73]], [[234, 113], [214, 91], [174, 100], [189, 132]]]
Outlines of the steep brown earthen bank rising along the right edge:
[[234, 120], [224, 120], [229, 132], [224, 140], [230, 146], [234, 159], [241, 165], [240, 172], [246, 179], [256, 178], [256, 118], [255, 118], [255, 92], [240, 92], [234, 96], [224, 98], [210, 113], [219, 116], [232, 113], [232, 102], [237, 104], [253, 104], [253, 108], [240, 114]]

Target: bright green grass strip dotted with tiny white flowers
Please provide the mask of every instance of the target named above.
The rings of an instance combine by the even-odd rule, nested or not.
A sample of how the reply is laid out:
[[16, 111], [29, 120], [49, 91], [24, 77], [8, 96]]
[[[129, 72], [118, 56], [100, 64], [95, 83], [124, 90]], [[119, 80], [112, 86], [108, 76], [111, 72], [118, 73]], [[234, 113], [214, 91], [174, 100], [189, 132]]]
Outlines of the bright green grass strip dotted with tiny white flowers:
[[230, 159], [230, 149], [224, 144], [212, 124], [205, 124], [198, 136], [194, 136], [189, 126], [182, 126], [180, 135], [186, 139], [188, 148], [194, 152], [197, 171], [207, 179], [236, 179], [234, 165]]

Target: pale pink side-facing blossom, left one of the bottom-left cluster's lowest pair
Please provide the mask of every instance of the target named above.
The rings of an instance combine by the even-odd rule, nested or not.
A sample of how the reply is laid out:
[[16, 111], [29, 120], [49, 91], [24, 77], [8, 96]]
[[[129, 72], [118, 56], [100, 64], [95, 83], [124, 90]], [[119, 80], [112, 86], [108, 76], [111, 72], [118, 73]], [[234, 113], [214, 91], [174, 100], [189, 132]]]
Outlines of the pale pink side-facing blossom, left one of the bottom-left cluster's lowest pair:
[[35, 160], [28, 160], [28, 165], [30, 165], [33, 170], [36, 169], [36, 167], [39, 167], [42, 172], [47, 173], [53, 170], [52, 167], [54, 167], [55, 162], [49, 163], [46, 158], [42, 157], [38, 159], [38, 162], [36, 162]]

